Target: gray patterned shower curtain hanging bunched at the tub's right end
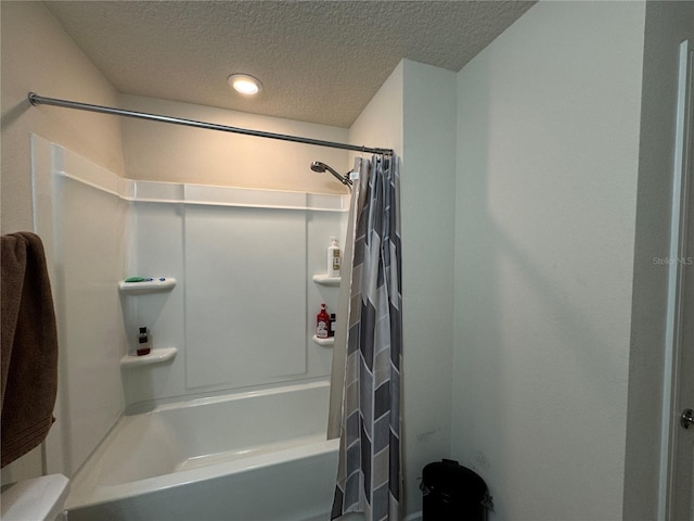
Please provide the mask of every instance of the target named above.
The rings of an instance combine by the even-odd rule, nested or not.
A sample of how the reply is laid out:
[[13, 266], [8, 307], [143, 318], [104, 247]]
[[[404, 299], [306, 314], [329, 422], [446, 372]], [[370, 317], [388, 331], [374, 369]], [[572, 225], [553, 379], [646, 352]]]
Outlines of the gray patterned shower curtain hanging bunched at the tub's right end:
[[[367, 521], [400, 519], [402, 498], [400, 368], [402, 295], [400, 173], [397, 156], [357, 160], [348, 226], [346, 352], [342, 371], [339, 465], [331, 519], [364, 512]], [[351, 269], [349, 269], [349, 267]], [[345, 268], [345, 266], [344, 266]], [[338, 308], [338, 314], [339, 314]], [[342, 367], [340, 367], [342, 366]]]

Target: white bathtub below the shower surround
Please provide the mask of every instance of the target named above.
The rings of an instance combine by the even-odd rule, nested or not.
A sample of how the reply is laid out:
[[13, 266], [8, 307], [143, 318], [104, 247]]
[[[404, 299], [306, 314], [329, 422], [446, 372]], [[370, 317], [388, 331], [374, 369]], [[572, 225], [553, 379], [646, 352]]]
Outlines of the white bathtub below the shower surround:
[[313, 382], [124, 416], [72, 481], [68, 519], [329, 519], [329, 392]]

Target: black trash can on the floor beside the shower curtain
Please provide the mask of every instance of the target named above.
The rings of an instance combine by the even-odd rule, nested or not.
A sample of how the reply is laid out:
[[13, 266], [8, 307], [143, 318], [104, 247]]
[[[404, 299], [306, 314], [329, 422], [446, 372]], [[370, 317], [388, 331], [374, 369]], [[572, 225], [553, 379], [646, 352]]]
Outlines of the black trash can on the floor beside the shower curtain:
[[422, 521], [485, 521], [491, 497], [477, 473], [444, 459], [422, 471]]

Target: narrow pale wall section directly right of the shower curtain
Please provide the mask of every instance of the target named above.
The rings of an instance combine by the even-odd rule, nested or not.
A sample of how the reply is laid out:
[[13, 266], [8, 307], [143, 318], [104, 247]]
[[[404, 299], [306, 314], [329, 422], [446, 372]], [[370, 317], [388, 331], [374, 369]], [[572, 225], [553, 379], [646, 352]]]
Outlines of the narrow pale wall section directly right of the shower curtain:
[[422, 468], [450, 454], [455, 74], [404, 61], [402, 291], [408, 512]]

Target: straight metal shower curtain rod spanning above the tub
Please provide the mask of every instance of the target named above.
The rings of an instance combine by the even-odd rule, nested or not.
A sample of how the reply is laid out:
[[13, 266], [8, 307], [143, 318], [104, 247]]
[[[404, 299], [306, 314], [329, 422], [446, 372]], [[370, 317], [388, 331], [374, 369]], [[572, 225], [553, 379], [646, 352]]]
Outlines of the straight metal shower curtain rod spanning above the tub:
[[393, 149], [375, 149], [371, 147], [359, 147], [357, 144], [337, 143], [334, 141], [323, 141], [321, 139], [301, 138], [298, 136], [288, 136], [285, 134], [262, 132], [260, 130], [250, 130], [247, 128], [228, 127], [215, 123], [196, 122], [195, 119], [183, 119], [180, 117], [160, 116], [157, 114], [147, 114], [146, 112], [125, 111], [123, 109], [114, 109], [111, 106], [90, 105], [89, 103], [80, 103], [78, 101], [59, 100], [56, 98], [44, 98], [36, 92], [28, 93], [29, 102], [33, 105], [54, 105], [65, 109], [77, 109], [79, 111], [98, 112], [101, 114], [112, 114], [115, 116], [134, 117], [138, 119], [149, 119], [151, 122], [171, 123], [175, 125], [183, 125], [187, 127], [206, 128], [208, 130], [219, 130], [222, 132], [242, 134], [245, 136], [256, 136], [258, 138], [279, 139], [281, 141], [293, 141], [295, 143], [314, 144], [317, 147], [329, 147], [332, 149], [351, 150], [355, 152], [363, 152], [370, 154], [393, 155]]

